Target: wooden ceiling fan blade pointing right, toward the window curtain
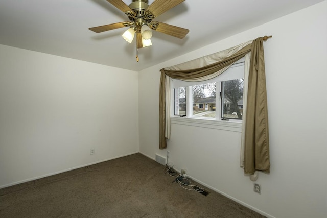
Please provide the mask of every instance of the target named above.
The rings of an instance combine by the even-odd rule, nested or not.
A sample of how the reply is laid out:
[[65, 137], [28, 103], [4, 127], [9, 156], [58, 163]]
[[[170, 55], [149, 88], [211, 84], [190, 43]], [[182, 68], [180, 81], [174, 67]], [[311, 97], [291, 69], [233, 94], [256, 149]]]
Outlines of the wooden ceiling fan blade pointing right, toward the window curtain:
[[184, 38], [186, 36], [186, 34], [189, 33], [190, 30], [185, 29], [185, 28], [181, 28], [181, 27], [176, 27], [173, 25], [169, 25], [167, 23], [163, 23], [163, 22], [158, 22], [158, 21], [152, 21], [150, 23], [150, 27], [152, 30], [161, 32], [161, 33], [165, 33], [177, 38]]

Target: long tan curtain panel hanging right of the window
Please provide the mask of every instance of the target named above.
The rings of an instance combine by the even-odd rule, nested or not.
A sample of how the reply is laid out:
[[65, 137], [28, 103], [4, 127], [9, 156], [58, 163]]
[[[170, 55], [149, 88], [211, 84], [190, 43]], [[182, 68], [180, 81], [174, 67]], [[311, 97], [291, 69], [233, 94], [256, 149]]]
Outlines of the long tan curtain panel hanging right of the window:
[[244, 173], [269, 173], [269, 131], [263, 40], [251, 48], [244, 144]]

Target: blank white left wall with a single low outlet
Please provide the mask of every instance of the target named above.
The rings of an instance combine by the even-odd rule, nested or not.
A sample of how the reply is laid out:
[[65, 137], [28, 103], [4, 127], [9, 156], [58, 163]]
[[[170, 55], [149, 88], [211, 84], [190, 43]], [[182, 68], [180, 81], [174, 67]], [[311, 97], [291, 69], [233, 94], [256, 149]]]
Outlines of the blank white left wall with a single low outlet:
[[0, 45], [0, 188], [138, 152], [137, 80]]

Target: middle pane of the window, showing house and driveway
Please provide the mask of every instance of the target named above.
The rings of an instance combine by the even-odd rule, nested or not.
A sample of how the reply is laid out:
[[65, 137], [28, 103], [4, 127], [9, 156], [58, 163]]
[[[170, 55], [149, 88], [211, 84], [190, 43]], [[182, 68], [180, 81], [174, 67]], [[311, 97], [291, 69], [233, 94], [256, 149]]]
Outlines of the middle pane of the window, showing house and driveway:
[[216, 117], [216, 83], [192, 86], [193, 116]]

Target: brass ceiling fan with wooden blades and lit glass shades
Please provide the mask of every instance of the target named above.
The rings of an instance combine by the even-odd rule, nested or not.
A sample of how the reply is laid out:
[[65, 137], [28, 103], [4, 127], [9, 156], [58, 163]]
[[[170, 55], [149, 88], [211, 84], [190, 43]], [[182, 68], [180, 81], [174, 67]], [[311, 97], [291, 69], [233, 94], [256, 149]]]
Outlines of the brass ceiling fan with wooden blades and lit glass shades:
[[[96, 33], [108, 30], [114, 30], [122, 27], [130, 27], [123, 34], [123, 38], [131, 43], [136, 33], [136, 48], [142, 48], [152, 45], [152, 31], [155, 30], [177, 38], [184, 38], [189, 33], [188, 29], [169, 25], [167, 23], [153, 21], [160, 14], [168, 11], [185, 0], [154, 0], [148, 5], [148, 0], [132, 0], [132, 3], [126, 5], [122, 0], [107, 0], [119, 10], [123, 11], [130, 21], [111, 23], [99, 27], [88, 28]], [[137, 52], [137, 50], [136, 50]], [[136, 54], [136, 59], [138, 57]]]

